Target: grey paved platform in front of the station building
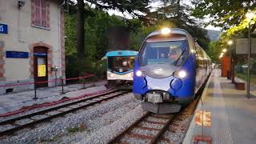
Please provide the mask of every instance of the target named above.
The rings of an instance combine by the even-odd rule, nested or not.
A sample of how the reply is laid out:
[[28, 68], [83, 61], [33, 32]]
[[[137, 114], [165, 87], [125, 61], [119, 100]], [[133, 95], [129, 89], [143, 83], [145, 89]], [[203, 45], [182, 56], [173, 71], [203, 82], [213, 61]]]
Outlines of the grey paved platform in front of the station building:
[[10, 111], [19, 110], [23, 106], [32, 106], [34, 104], [42, 104], [46, 102], [58, 101], [64, 97], [72, 98], [81, 94], [90, 94], [100, 90], [106, 90], [106, 81], [93, 82], [85, 85], [86, 89], [82, 89], [82, 84], [64, 86], [64, 93], [62, 86], [54, 86], [37, 89], [37, 100], [34, 100], [34, 90], [0, 95], [0, 114], [5, 114]]

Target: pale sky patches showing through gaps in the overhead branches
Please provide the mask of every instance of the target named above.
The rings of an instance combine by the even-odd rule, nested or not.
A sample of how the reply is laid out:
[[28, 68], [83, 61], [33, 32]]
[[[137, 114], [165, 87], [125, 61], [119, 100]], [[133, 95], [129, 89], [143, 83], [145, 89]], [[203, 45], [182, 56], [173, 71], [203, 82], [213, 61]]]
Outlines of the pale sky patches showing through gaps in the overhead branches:
[[[191, 5], [190, 0], [184, 0], [183, 2], [186, 3], [187, 5]], [[150, 6], [152, 6], [152, 7], [159, 7], [159, 6], [161, 6], [161, 3], [160, 2], [153, 2], [153, 3], [150, 4]], [[132, 18], [130, 16], [130, 14], [127, 14], [127, 13], [122, 14], [118, 10], [107, 10], [107, 12], [110, 15], [114, 14], [114, 15], [119, 15], [119, 16], [125, 17], [125, 18], [129, 18], [129, 19]], [[209, 22], [210, 19], [209, 18], [205, 18], [204, 21], [205, 22]], [[203, 27], [203, 28], [205, 28], [207, 30], [219, 30], [219, 31], [222, 30], [221, 27], [215, 27], [215, 26], [211, 26], [211, 25]]]

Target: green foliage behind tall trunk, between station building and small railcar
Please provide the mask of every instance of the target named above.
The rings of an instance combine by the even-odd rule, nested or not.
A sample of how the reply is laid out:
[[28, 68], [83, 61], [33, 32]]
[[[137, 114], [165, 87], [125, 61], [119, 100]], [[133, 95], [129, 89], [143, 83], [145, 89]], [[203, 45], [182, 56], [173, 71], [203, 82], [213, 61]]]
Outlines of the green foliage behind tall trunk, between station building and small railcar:
[[76, 14], [66, 14], [65, 17], [67, 78], [82, 74], [106, 75], [106, 62], [101, 58], [108, 49], [107, 30], [110, 26], [124, 25], [121, 20], [102, 10], [87, 7], [87, 11], [90, 15], [86, 15], [85, 22], [86, 58], [77, 58], [76, 55]]

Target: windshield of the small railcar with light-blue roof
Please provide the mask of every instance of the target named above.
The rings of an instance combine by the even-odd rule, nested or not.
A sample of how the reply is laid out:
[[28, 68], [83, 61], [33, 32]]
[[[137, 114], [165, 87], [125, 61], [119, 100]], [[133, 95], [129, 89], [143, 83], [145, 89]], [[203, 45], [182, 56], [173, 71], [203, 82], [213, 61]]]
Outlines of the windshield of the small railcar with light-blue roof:
[[108, 57], [108, 69], [118, 73], [125, 73], [134, 69], [134, 60], [135, 56]]

